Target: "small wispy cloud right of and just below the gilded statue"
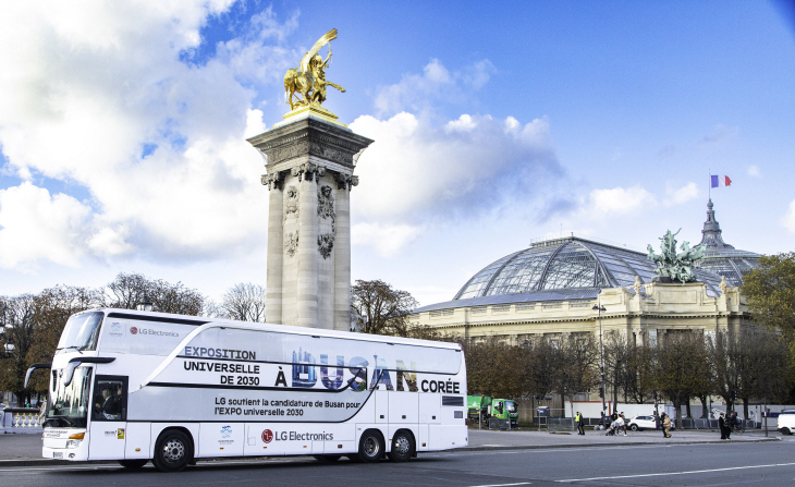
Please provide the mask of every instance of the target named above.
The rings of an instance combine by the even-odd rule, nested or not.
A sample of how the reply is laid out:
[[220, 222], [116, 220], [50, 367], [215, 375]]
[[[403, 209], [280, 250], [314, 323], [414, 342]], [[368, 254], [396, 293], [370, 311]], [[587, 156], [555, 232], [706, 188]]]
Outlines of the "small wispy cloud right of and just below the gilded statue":
[[391, 115], [402, 110], [423, 111], [435, 99], [460, 100], [485, 86], [494, 71], [488, 59], [452, 73], [438, 59], [431, 59], [423, 74], [404, 74], [400, 83], [379, 87], [376, 111]]

